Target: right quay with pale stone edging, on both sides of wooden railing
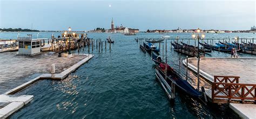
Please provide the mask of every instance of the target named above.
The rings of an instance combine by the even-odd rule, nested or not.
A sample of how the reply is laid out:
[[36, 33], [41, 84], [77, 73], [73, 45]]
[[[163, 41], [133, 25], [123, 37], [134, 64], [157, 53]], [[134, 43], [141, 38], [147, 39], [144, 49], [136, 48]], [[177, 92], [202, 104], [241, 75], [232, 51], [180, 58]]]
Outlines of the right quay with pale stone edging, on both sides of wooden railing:
[[[183, 60], [183, 64], [187, 64], [186, 60]], [[197, 58], [189, 58], [187, 65], [197, 73]], [[214, 75], [231, 75], [240, 76], [239, 83], [255, 84], [255, 67], [256, 58], [201, 58], [199, 74], [208, 82], [213, 82]], [[256, 104], [230, 103], [229, 106], [241, 118], [256, 118]]]

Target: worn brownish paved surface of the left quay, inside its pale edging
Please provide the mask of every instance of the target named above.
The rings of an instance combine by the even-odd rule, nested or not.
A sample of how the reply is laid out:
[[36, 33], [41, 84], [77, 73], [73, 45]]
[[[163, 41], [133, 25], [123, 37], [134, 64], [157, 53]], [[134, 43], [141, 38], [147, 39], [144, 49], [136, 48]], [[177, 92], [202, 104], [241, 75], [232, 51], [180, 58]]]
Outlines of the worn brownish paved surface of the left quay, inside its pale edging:
[[55, 64], [56, 73], [77, 64], [87, 55], [58, 57], [57, 54], [39, 54], [35, 56], [16, 55], [17, 52], [0, 53], [0, 94], [22, 85], [43, 73], [50, 73], [51, 65]]

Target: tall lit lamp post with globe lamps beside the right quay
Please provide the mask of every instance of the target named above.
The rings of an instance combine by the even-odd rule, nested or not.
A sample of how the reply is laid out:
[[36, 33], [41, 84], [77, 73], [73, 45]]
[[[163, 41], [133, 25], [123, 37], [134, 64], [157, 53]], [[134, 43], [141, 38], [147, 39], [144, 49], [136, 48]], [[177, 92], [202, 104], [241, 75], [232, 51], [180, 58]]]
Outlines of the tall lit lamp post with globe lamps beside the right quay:
[[199, 84], [200, 84], [200, 80], [199, 80], [199, 62], [200, 62], [200, 54], [199, 54], [199, 40], [201, 39], [201, 38], [205, 38], [205, 34], [201, 34], [201, 36], [200, 36], [200, 29], [198, 28], [197, 29], [197, 34], [192, 34], [192, 38], [194, 39], [194, 40], [198, 40], [198, 49], [197, 49], [197, 89], [198, 89], [198, 91], [199, 91]]

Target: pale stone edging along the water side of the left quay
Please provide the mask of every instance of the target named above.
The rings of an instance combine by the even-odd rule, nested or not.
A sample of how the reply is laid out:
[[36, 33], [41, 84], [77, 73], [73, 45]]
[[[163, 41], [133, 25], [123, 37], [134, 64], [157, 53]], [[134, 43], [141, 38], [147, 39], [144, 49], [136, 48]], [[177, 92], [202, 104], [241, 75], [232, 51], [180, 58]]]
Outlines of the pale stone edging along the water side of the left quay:
[[[78, 67], [83, 65], [85, 62], [89, 61], [93, 55], [92, 54], [85, 54], [81, 55], [83, 57], [82, 60], [77, 62], [75, 65], [65, 69], [61, 73], [56, 74], [41, 74], [36, 78], [29, 80], [28, 82], [23, 83], [22, 85], [17, 86], [14, 89], [10, 89], [8, 92], [5, 92], [3, 95], [0, 95], [0, 119], [7, 118], [12, 113], [17, 111], [18, 109], [22, 108], [25, 104], [30, 102], [33, 99], [32, 95], [21, 95], [21, 96], [14, 96], [10, 94], [14, 94], [19, 90], [24, 89], [27, 86], [30, 86], [32, 83], [41, 80], [41, 79], [53, 79], [53, 80], [62, 80], [66, 78], [70, 73], [75, 71]], [[73, 57], [77, 57], [77, 54], [73, 55]], [[72, 57], [71, 57], [72, 58]], [[74, 61], [75, 62], [75, 61]]]

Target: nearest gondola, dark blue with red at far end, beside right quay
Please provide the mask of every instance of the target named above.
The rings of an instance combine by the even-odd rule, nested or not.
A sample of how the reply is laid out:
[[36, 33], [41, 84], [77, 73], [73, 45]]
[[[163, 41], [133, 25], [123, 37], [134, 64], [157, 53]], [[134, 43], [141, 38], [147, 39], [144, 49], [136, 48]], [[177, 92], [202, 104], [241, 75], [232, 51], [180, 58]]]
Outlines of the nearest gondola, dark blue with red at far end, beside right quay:
[[[153, 56], [153, 55], [152, 55]], [[165, 80], [165, 73], [163, 66], [167, 65], [163, 61], [158, 61], [156, 59], [156, 55], [152, 57], [152, 60], [156, 63], [156, 75], [161, 78], [161, 80]], [[167, 65], [167, 79], [165, 80], [169, 87], [171, 86], [171, 83], [174, 83], [176, 85], [176, 89], [181, 90], [182, 92], [186, 93], [187, 95], [190, 95], [192, 97], [200, 98], [203, 96], [203, 93], [199, 92], [197, 89], [192, 87], [190, 83], [188, 83], [186, 80], [184, 80], [176, 71], [174, 71], [173, 68], [171, 68], [169, 65]]]

